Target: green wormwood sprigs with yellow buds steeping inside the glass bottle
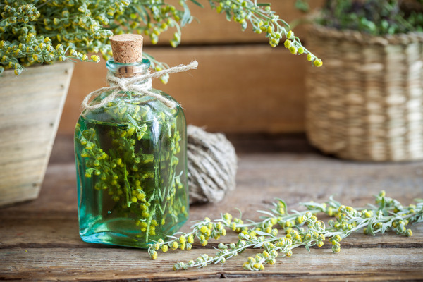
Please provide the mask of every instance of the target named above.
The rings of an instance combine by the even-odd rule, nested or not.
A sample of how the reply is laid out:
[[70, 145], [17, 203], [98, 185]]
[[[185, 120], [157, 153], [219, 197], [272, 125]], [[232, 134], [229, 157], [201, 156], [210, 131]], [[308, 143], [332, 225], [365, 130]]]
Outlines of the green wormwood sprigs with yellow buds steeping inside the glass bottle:
[[[149, 99], [109, 102], [87, 111], [75, 129], [78, 170], [85, 173], [86, 183], [92, 182], [87, 185], [104, 201], [104, 211], [109, 211], [102, 219], [135, 219], [137, 234], [128, 237], [140, 245], [151, 242], [150, 238], [158, 240], [164, 228], [188, 216], [181, 180], [185, 176], [178, 166], [177, 109], [160, 108]], [[100, 115], [106, 121], [93, 118]]]

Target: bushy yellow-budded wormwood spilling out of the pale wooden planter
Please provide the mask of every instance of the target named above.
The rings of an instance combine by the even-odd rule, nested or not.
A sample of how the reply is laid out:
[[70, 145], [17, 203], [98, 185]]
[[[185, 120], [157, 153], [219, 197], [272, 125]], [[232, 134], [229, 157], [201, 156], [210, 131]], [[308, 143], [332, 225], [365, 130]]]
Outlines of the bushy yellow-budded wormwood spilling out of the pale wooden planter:
[[[54, 63], [78, 59], [100, 61], [111, 57], [109, 37], [121, 33], [138, 33], [159, 42], [163, 32], [172, 31], [172, 47], [180, 44], [181, 27], [192, 22], [189, 3], [202, 7], [196, 0], [180, 0], [173, 5], [166, 0], [0, 0], [0, 74], [8, 68], [16, 75], [35, 63]], [[269, 4], [251, 0], [209, 0], [212, 8], [226, 13], [228, 19], [247, 23], [257, 33], [264, 32], [272, 47], [283, 37], [293, 54], [308, 54], [314, 66], [321, 60], [302, 46]], [[152, 68], [168, 68], [146, 54]], [[161, 77], [166, 83], [168, 75]]]

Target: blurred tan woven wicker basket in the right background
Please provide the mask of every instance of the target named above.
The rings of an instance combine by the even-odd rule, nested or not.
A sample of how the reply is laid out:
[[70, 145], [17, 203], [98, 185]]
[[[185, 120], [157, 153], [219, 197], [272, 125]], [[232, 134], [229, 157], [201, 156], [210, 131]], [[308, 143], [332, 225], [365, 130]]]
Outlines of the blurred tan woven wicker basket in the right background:
[[372, 37], [314, 25], [307, 68], [309, 141], [360, 161], [423, 159], [423, 33]]

